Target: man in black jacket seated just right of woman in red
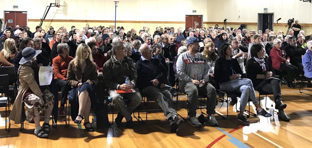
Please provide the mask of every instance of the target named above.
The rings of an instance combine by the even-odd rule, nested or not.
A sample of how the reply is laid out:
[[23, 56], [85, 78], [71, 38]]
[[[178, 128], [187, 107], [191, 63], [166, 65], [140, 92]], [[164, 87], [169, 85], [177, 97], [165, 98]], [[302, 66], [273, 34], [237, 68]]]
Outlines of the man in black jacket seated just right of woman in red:
[[295, 37], [289, 37], [288, 43], [289, 45], [285, 47], [285, 51], [290, 58], [289, 62], [292, 63], [293, 66], [296, 66], [298, 70], [303, 71], [301, 55], [304, 55], [306, 50], [304, 48], [301, 48], [301, 46], [297, 45]]

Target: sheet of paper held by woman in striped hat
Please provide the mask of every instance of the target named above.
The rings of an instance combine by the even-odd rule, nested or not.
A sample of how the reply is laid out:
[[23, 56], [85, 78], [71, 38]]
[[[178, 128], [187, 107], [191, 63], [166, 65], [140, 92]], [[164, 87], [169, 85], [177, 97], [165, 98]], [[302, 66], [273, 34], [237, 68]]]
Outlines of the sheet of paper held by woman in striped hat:
[[53, 66], [41, 66], [39, 69], [39, 85], [50, 85], [53, 77]]

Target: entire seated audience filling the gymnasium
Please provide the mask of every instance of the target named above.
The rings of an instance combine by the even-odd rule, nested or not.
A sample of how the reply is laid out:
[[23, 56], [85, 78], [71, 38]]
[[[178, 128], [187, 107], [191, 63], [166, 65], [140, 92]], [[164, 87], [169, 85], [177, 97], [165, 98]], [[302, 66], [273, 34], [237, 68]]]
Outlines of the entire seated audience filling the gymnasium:
[[[105, 98], [108, 91], [120, 110], [115, 123], [134, 126], [131, 111], [140, 105], [142, 97], [156, 101], [175, 132], [182, 124], [170, 92], [175, 85], [187, 94], [188, 123], [201, 126], [196, 118], [198, 96], [207, 96], [206, 113], [211, 125], [218, 125], [214, 117], [217, 90], [241, 93], [238, 121], [249, 124], [243, 116], [249, 101], [259, 116], [270, 117], [259, 105], [255, 91], [274, 95], [278, 117], [289, 121], [282, 103], [281, 81], [290, 88], [303, 75], [312, 83], [312, 36], [300, 31], [287, 36], [279, 30], [157, 27], [151, 34], [143, 27], [125, 32], [114, 28], [89, 24], [79, 30], [52, 26], [45, 33], [29, 27], [8, 27], [0, 37], [0, 66], [14, 66], [19, 92], [9, 119], [15, 124], [25, 120], [35, 123], [34, 134], [45, 138], [50, 131], [49, 115], [58, 91], [61, 92], [59, 116], [65, 116], [67, 98], [71, 104], [71, 118], [94, 131], [89, 121], [90, 109]], [[14, 32], [14, 33], [13, 33]], [[12, 34], [13, 33], [13, 34]], [[39, 67], [53, 66], [53, 81], [39, 85]], [[281, 73], [277, 74], [278, 71]], [[276, 75], [280, 75], [277, 79]], [[68, 94], [70, 91], [70, 94]], [[231, 98], [237, 102], [236, 98]], [[127, 101], [125, 101], [127, 100]], [[24, 101], [27, 114], [22, 109]], [[45, 120], [40, 125], [40, 114]]]

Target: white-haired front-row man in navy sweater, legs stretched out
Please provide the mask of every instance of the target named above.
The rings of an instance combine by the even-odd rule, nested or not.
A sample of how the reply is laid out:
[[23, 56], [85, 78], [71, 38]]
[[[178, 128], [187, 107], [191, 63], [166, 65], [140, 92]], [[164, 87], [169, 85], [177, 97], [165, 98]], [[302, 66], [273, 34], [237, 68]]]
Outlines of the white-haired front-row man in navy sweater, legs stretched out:
[[136, 62], [136, 71], [140, 83], [139, 90], [146, 97], [156, 101], [163, 109], [166, 119], [170, 121], [170, 130], [175, 132], [182, 124], [182, 119], [178, 114], [172, 102], [170, 87], [166, 87], [167, 71], [158, 58], [153, 58], [152, 50], [144, 44], [139, 48], [141, 58]]

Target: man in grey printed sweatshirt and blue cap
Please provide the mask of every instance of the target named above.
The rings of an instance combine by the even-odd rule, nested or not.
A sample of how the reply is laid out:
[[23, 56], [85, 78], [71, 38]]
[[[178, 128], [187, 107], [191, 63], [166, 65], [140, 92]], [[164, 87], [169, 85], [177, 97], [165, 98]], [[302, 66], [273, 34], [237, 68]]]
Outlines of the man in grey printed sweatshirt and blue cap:
[[214, 117], [215, 102], [217, 93], [208, 80], [209, 69], [211, 68], [206, 60], [206, 57], [199, 53], [198, 40], [195, 37], [190, 37], [187, 40], [188, 51], [179, 55], [177, 60], [177, 75], [179, 77], [180, 90], [187, 94], [188, 107], [190, 116], [188, 123], [192, 126], [201, 126], [196, 118], [196, 105], [199, 95], [207, 95], [207, 114], [211, 125], [218, 125]]

